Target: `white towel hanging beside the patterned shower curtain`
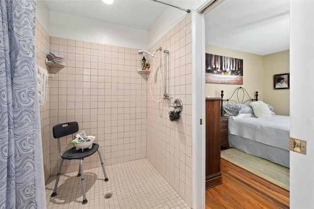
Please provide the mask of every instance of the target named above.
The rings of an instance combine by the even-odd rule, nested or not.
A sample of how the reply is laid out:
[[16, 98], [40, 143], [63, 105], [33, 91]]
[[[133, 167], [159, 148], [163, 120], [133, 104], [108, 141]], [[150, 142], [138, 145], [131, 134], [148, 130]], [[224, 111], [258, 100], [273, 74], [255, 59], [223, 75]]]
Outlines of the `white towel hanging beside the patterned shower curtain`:
[[48, 71], [37, 65], [37, 85], [38, 85], [38, 99], [39, 108], [44, 108], [47, 101], [48, 91]]

